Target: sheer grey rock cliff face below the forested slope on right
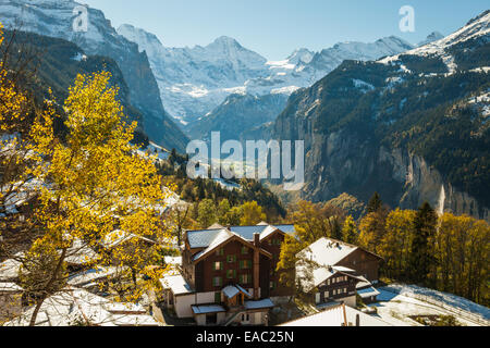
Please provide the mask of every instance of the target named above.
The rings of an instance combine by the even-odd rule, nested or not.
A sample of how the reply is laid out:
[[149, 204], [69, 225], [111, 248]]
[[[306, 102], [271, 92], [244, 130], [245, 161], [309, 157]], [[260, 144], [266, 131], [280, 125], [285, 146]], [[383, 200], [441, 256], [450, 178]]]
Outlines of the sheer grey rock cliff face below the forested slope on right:
[[306, 199], [328, 201], [348, 192], [368, 201], [378, 191], [391, 207], [416, 209], [428, 201], [439, 213], [468, 214], [490, 221], [488, 207], [444, 179], [440, 171], [407, 149], [389, 149], [347, 132], [324, 137], [313, 130], [308, 119], [279, 121], [274, 127], [275, 135], [293, 134], [305, 140]]

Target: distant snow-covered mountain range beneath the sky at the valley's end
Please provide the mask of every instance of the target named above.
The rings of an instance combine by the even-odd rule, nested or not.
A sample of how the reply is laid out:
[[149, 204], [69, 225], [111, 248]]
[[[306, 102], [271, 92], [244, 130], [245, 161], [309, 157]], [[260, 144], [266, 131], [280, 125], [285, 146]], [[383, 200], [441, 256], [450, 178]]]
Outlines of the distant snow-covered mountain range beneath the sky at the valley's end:
[[122, 25], [118, 33], [146, 51], [166, 109], [185, 125], [205, 116], [232, 94], [289, 96], [309, 87], [346, 59], [376, 60], [414, 48], [388, 37], [372, 44], [338, 44], [321, 52], [303, 48], [284, 61], [267, 61], [229, 37], [206, 47], [167, 48], [155, 35], [131, 25]]

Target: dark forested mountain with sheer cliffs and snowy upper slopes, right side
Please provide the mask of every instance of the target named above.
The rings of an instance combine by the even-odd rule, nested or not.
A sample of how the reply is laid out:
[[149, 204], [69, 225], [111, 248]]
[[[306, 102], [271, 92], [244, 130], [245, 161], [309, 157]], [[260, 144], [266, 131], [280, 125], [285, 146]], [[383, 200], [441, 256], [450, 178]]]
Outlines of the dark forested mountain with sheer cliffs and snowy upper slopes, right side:
[[402, 54], [344, 61], [296, 91], [261, 129], [305, 141], [305, 198], [378, 191], [392, 207], [428, 201], [489, 220], [489, 24], [487, 11]]

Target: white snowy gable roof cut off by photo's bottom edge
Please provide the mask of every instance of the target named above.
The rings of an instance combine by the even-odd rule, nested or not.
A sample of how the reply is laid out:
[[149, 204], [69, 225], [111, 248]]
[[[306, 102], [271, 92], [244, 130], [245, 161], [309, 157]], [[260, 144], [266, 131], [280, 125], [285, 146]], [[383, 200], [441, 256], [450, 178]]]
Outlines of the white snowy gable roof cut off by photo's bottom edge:
[[360, 326], [391, 326], [382, 320], [365, 314], [345, 304], [333, 306], [320, 313], [305, 316], [280, 326], [344, 326], [345, 322], [347, 326], [355, 326], [357, 315], [359, 315]]

